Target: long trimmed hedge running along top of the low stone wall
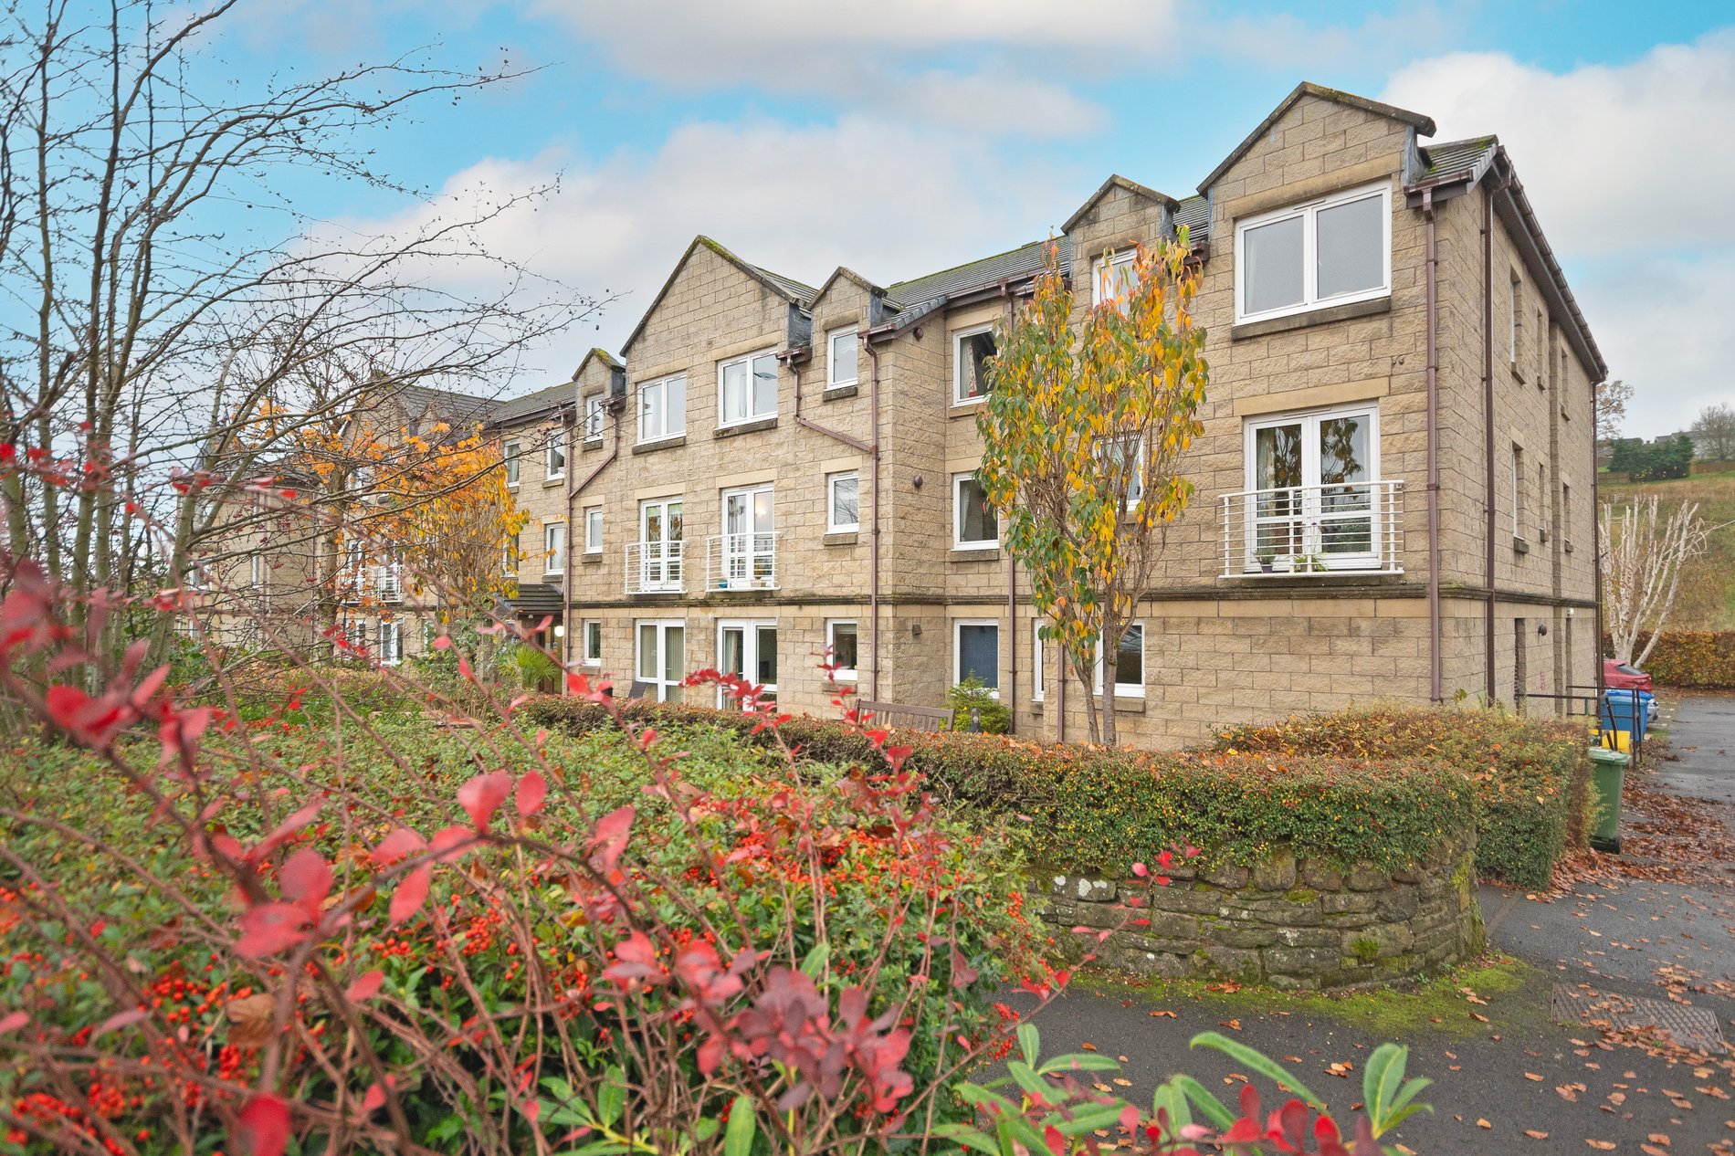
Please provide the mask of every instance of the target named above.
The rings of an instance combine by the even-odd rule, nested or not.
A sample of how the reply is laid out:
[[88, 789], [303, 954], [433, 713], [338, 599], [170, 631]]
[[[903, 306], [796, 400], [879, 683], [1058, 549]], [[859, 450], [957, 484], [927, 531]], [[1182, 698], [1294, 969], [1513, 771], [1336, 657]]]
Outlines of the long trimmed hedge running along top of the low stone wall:
[[[746, 736], [737, 712], [626, 705], [659, 729], [722, 726]], [[538, 698], [520, 712], [540, 726], [583, 732], [604, 712], [571, 698]], [[874, 765], [873, 745], [848, 727], [795, 717], [781, 727], [805, 759]], [[772, 741], [756, 736], [755, 741]], [[1421, 760], [1138, 750], [1025, 743], [992, 734], [899, 732], [906, 767], [953, 805], [1027, 819], [1032, 856], [1077, 871], [1124, 873], [1166, 847], [1206, 849], [1206, 868], [1251, 866], [1279, 845], [1298, 857], [1385, 870], [1430, 859], [1471, 824], [1470, 783]], [[1064, 851], [1062, 851], [1064, 849]]]

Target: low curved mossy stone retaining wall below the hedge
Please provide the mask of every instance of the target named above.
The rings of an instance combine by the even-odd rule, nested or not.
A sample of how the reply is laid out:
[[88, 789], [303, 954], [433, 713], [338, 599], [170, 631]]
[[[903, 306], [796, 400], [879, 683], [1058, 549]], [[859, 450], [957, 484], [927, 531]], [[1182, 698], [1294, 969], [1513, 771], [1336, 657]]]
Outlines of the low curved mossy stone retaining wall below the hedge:
[[[1055, 927], [1119, 927], [1097, 948], [1116, 970], [1341, 989], [1430, 972], [1482, 949], [1473, 854], [1468, 838], [1409, 870], [1364, 863], [1338, 871], [1284, 851], [1254, 868], [1176, 863], [1168, 887], [1050, 873], [1038, 877], [1036, 890]], [[1133, 896], [1147, 903], [1129, 908]]]

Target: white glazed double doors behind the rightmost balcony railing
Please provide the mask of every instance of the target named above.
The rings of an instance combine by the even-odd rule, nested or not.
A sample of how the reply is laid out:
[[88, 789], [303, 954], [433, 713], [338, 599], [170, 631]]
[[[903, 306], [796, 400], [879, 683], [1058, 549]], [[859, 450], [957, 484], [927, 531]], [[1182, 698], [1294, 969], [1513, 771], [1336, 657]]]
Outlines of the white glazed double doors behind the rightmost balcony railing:
[[1322, 410], [1247, 424], [1247, 555], [1378, 564], [1378, 410]]

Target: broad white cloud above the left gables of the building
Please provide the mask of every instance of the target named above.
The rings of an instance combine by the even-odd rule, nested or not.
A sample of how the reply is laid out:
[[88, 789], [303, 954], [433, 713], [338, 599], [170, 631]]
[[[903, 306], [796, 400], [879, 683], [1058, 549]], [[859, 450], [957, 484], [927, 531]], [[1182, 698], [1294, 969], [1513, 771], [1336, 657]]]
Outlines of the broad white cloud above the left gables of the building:
[[1057, 167], [1010, 163], [972, 134], [868, 118], [812, 128], [692, 123], [651, 153], [621, 151], [560, 172], [562, 160], [489, 160], [451, 177], [444, 203], [349, 222], [408, 233], [435, 212], [472, 212], [559, 172], [557, 194], [486, 224], [479, 241], [534, 274], [625, 297], [600, 332], [583, 326], [548, 351], [534, 384], [571, 373], [592, 345], [618, 349], [697, 233], [809, 285], [840, 264], [887, 283], [1036, 240], [1095, 184]]

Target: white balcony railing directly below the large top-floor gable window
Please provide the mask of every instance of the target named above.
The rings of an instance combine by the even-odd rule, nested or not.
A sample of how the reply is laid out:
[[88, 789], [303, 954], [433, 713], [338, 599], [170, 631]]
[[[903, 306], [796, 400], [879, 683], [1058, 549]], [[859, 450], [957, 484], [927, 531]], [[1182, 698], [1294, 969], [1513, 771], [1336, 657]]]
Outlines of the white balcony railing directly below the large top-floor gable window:
[[1246, 489], [1221, 507], [1225, 578], [1404, 573], [1402, 481]]

